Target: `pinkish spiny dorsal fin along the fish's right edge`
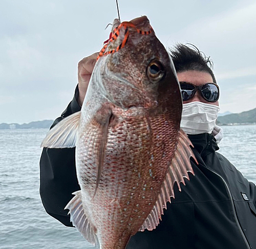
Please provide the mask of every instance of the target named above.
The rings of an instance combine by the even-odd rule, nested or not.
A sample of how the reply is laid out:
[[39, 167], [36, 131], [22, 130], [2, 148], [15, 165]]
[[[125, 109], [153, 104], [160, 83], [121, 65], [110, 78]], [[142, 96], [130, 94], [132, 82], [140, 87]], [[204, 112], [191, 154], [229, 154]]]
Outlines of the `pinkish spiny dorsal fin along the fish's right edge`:
[[161, 220], [163, 209], [167, 207], [167, 201], [170, 202], [170, 197], [175, 197], [174, 184], [177, 182], [178, 188], [181, 191], [180, 183], [185, 185], [184, 178], [189, 180], [188, 172], [194, 175], [189, 158], [193, 157], [196, 162], [197, 160], [189, 146], [193, 146], [193, 144], [190, 142], [185, 132], [180, 130], [177, 149], [172, 163], [167, 170], [166, 178], [157, 197], [156, 204], [139, 231], [144, 231], [145, 229], [152, 231], [157, 227], [160, 222], [159, 219]]

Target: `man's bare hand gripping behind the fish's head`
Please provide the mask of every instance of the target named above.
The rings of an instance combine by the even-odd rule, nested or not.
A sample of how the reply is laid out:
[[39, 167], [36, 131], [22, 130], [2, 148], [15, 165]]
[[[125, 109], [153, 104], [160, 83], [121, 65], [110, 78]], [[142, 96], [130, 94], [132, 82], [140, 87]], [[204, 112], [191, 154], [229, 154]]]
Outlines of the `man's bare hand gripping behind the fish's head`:
[[86, 97], [87, 87], [96, 63], [99, 53], [94, 53], [88, 57], [83, 58], [78, 62], [78, 104], [82, 106], [84, 97]]

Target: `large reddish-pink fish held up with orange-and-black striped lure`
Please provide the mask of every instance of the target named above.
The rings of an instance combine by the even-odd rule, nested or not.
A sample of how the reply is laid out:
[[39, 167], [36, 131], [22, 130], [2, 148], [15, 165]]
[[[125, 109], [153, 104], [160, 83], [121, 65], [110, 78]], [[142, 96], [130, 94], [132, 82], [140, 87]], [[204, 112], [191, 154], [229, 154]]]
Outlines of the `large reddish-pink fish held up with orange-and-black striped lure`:
[[81, 111], [54, 126], [48, 148], [76, 147], [81, 190], [67, 204], [71, 221], [93, 245], [124, 249], [152, 231], [174, 185], [194, 174], [191, 142], [180, 129], [182, 99], [172, 59], [146, 16], [113, 22]]

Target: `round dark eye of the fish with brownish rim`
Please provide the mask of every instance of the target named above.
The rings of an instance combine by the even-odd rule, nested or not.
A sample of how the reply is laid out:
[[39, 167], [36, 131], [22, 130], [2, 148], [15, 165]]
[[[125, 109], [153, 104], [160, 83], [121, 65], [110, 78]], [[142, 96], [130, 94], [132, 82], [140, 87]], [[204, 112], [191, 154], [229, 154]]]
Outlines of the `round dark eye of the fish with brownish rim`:
[[162, 63], [159, 60], [152, 60], [146, 69], [146, 74], [151, 82], [158, 82], [163, 79], [165, 70]]

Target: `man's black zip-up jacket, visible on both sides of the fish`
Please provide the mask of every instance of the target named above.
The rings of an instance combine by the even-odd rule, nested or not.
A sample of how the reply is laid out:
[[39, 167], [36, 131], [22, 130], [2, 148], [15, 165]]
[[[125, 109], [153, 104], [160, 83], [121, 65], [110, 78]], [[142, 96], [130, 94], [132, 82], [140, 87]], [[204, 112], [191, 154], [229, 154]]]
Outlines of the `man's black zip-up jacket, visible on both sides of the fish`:
[[[79, 111], [76, 98], [61, 119]], [[162, 221], [153, 231], [138, 232], [127, 249], [253, 248], [256, 249], [256, 187], [221, 154], [208, 133], [189, 135], [199, 165], [193, 160], [191, 175], [175, 199], [168, 203]], [[40, 160], [40, 195], [48, 214], [72, 227], [63, 210], [72, 193], [79, 190], [75, 171], [75, 148], [46, 149]]]

